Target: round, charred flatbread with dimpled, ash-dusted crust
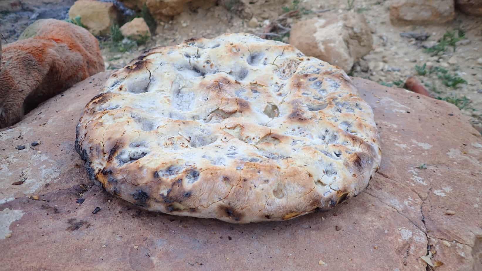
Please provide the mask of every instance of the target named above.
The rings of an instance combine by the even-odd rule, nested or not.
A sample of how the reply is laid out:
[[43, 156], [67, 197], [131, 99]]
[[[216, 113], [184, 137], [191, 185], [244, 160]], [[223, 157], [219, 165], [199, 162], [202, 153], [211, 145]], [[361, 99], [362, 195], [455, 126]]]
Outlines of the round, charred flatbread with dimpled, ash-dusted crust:
[[380, 163], [372, 109], [343, 70], [245, 33], [154, 48], [115, 71], [76, 149], [124, 200], [232, 223], [329, 210]]

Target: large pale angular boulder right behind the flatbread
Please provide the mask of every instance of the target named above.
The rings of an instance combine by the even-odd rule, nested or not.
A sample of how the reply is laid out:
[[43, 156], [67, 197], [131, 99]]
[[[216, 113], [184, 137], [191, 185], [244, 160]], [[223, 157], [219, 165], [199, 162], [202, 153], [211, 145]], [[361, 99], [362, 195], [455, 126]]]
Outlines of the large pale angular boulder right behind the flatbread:
[[373, 37], [362, 14], [324, 14], [320, 19], [293, 25], [289, 42], [303, 54], [348, 72], [353, 63], [372, 50]]

